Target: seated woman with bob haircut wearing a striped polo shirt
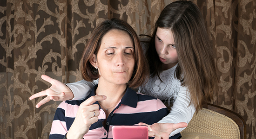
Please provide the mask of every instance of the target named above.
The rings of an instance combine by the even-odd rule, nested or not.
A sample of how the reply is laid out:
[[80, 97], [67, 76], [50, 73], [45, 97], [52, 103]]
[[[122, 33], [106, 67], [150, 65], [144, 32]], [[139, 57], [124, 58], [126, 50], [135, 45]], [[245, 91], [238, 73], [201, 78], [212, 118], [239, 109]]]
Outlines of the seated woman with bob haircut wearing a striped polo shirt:
[[[56, 110], [49, 139], [111, 139], [112, 126], [149, 125], [168, 114], [159, 99], [137, 94], [148, 77], [139, 39], [126, 22], [111, 19], [92, 32], [83, 52], [81, 73], [99, 79], [87, 98], [63, 101]], [[187, 126], [186, 123], [177, 125]], [[179, 139], [180, 134], [170, 139]]]

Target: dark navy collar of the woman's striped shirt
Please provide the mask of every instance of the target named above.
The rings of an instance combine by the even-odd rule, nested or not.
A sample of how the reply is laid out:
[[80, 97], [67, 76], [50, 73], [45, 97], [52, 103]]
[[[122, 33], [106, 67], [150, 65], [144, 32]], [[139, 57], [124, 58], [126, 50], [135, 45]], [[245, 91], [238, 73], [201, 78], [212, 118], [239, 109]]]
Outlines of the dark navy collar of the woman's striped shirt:
[[[86, 99], [95, 95], [95, 90], [97, 87], [98, 87], [98, 84], [96, 84], [93, 87], [91, 93], [88, 95], [88, 97]], [[130, 106], [130, 107], [137, 107], [137, 103], [138, 103], [138, 95], [137, 95], [136, 91], [134, 91], [132, 88], [127, 87], [126, 92], [121, 99], [121, 104]], [[98, 101], [97, 101], [97, 104], [98, 104]]]

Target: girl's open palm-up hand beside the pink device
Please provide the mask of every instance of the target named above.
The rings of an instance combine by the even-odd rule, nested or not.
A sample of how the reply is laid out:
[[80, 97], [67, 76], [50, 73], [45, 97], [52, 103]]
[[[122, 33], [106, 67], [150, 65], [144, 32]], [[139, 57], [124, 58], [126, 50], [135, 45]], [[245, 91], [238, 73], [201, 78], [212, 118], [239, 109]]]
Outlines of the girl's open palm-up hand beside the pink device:
[[145, 123], [139, 123], [139, 125], [148, 126], [148, 137], [155, 136], [155, 139], [168, 139], [169, 134], [178, 128], [187, 127], [188, 124], [185, 122], [180, 122], [177, 124], [173, 123], [155, 123], [151, 126]]

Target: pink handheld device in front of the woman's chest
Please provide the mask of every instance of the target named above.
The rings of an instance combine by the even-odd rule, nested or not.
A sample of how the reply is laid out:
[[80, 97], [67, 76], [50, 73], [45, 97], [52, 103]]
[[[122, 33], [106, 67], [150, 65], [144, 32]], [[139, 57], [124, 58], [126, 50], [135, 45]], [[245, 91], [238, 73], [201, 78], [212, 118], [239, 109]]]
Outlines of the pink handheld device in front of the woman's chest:
[[113, 126], [113, 139], [148, 139], [148, 126]]

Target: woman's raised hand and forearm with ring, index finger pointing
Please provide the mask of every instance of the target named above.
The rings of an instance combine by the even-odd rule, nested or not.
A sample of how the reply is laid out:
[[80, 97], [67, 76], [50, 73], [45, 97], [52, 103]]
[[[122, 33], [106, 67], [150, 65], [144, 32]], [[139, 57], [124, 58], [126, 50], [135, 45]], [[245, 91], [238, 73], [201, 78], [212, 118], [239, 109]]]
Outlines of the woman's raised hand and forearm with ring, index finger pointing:
[[67, 139], [82, 139], [88, 133], [92, 124], [98, 121], [99, 105], [93, 104], [95, 101], [103, 101], [105, 95], [95, 95], [80, 104], [73, 124], [67, 132]]

